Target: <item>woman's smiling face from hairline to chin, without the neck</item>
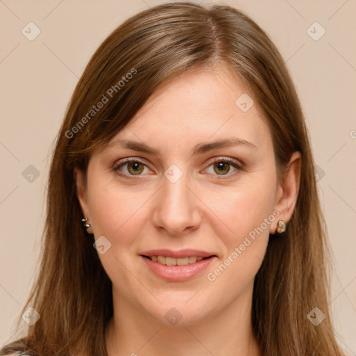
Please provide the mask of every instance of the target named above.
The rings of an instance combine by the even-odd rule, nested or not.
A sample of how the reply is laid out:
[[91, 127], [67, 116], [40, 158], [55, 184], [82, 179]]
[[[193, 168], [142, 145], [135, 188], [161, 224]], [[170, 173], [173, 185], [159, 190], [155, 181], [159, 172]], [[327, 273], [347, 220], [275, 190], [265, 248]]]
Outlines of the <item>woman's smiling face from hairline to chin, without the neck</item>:
[[86, 186], [76, 175], [120, 305], [191, 325], [250, 300], [296, 184], [278, 183], [272, 136], [243, 94], [226, 68], [185, 74], [92, 154]]

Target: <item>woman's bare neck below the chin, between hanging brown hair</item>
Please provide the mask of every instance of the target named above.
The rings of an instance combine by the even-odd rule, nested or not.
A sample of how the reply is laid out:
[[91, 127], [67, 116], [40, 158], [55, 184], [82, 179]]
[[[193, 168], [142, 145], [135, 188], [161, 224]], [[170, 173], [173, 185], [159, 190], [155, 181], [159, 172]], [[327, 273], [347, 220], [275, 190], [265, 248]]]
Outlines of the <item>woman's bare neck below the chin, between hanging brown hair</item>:
[[252, 289], [193, 325], [160, 323], [115, 291], [113, 300], [114, 316], [106, 333], [108, 356], [260, 355], [252, 332]]

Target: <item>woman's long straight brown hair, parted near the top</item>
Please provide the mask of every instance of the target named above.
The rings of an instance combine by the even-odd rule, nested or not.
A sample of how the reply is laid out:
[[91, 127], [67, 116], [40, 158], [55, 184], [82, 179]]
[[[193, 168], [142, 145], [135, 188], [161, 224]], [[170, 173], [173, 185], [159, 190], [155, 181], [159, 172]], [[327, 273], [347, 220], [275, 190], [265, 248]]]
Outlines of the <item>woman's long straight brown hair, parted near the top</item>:
[[[270, 238], [254, 281], [252, 323], [261, 355], [343, 355], [327, 307], [327, 239], [314, 161], [296, 89], [279, 51], [244, 13], [224, 5], [167, 3], [121, 24], [90, 59], [67, 108], [51, 161], [42, 261], [22, 310], [40, 319], [1, 355], [107, 355], [111, 280], [81, 225], [74, 167], [133, 118], [152, 93], [189, 70], [225, 63], [249, 86], [273, 135], [281, 169], [302, 155], [296, 209], [283, 238]], [[107, 99], [107, 101], [106, 101]], [[102, 102], [102, 108], [94, 109]], [[99, 106], [99, 105], [97, 105]], [[307, 315], [318, 307], [319, 325]], [[19, 323], [21, 318], [17, 323]]]

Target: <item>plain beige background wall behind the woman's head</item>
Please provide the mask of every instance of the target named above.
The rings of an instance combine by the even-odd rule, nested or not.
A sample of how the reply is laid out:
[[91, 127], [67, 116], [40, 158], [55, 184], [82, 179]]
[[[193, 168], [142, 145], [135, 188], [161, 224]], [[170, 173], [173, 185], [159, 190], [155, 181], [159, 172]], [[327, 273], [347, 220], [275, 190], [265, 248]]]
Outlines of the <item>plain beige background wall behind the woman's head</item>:
[[[1, 345], [13, 335], [38, 263], [49, 159], [74, 86], [116, 26], [163, 2], [0, 0]], [[296, 82], [334, 252], [334, 321], [341, 346], [356, 355], [356, 1], [225, 3], [267, 31]], [[29, 22], [41, 31], [32, 41], [22, 34], [30, 35]], [[321, 27], [307, 32], [314, 22], [326, 31], [319, 40], [308, 32], [316, 38]], [[40, 174], [32, 182], [22, 174], [29, 165]]]

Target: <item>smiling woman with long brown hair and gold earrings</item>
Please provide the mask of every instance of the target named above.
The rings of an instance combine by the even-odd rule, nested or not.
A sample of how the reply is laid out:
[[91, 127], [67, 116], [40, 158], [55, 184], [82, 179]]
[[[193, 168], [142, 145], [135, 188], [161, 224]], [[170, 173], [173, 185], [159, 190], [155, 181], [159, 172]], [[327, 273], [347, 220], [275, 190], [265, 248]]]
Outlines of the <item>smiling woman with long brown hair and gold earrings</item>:
[[343, 355], [300, 102], [229, 6], [150, 8], [97, 49], [44, 236], [27, 336], [1, 355]]

